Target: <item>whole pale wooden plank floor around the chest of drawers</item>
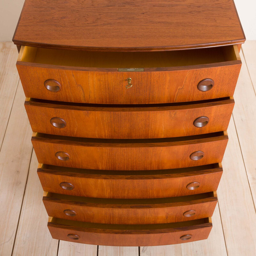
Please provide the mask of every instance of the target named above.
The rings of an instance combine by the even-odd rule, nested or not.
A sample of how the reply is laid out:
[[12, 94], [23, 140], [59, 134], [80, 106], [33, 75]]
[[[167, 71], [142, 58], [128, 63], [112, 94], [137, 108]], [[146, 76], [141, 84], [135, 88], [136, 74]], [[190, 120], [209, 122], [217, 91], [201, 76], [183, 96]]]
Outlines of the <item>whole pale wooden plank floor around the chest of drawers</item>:
[[0, 43], [0, 256], [255, 256], [256, 41], [246, 41], [240, 54], [243, 65], [209, 238], [168, 246], [111, 247], [52, 239], [15, 67], [17, 48], [12, 42]]

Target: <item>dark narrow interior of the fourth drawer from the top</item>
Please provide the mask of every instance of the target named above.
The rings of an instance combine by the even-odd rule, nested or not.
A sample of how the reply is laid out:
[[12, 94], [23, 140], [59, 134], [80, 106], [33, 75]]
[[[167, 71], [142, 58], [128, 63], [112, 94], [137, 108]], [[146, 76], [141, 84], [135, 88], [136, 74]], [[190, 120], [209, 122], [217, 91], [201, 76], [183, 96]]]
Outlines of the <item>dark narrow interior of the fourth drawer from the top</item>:
[[[186, 168], [178, 169], [167, 169], [167, 170], [148, 170], [148, 171], [109, 171], [109, 170], [90, 170], [90, 169], [80, 169], [72, 167], [63, 167], [57, 165], [49, 164], [39, 164], [38, 172], [47, 172], [53, 175], [65, 175], [71, 177], [80, 178], [92, 178], [92, 179], [112, 179], [112, 180], [140, 180], [140, 179], [160, 179], [160, 178], [170, 178], [172, 174], [187, 173], [187, 172], [222, 172], [221, 163], [199, 165]], [[196, 174], [194, 174], [196, 175]]]

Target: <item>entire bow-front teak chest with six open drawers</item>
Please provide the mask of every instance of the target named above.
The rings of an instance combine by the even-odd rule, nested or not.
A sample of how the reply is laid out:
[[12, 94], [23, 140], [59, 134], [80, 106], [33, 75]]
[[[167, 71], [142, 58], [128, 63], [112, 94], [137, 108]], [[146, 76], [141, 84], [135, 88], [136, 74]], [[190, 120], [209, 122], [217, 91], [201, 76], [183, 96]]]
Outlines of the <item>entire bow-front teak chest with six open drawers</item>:
[[245, 36], [232, 0], [26, 0], [13, 42], [55, 239], [206, 239]]

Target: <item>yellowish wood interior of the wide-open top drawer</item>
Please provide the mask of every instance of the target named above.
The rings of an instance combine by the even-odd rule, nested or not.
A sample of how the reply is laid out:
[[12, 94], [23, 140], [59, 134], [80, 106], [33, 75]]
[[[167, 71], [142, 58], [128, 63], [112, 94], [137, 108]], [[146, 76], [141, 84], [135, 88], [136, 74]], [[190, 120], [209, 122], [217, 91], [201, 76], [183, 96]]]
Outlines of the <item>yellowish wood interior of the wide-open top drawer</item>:
[[240, 60], [237, 45], [163, 52], [93, 52], [22, 46], [18, 61], [90, 68], [161, 68]]

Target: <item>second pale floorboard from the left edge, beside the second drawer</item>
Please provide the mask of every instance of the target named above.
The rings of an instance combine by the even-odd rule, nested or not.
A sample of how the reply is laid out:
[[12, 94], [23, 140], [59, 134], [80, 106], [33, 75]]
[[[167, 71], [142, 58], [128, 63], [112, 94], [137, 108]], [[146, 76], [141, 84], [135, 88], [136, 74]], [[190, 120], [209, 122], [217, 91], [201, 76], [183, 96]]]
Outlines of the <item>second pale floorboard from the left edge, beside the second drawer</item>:
[[0, 152], [0, 255], [12, 254], [32, 154], [31, 128], [18, 85]]

